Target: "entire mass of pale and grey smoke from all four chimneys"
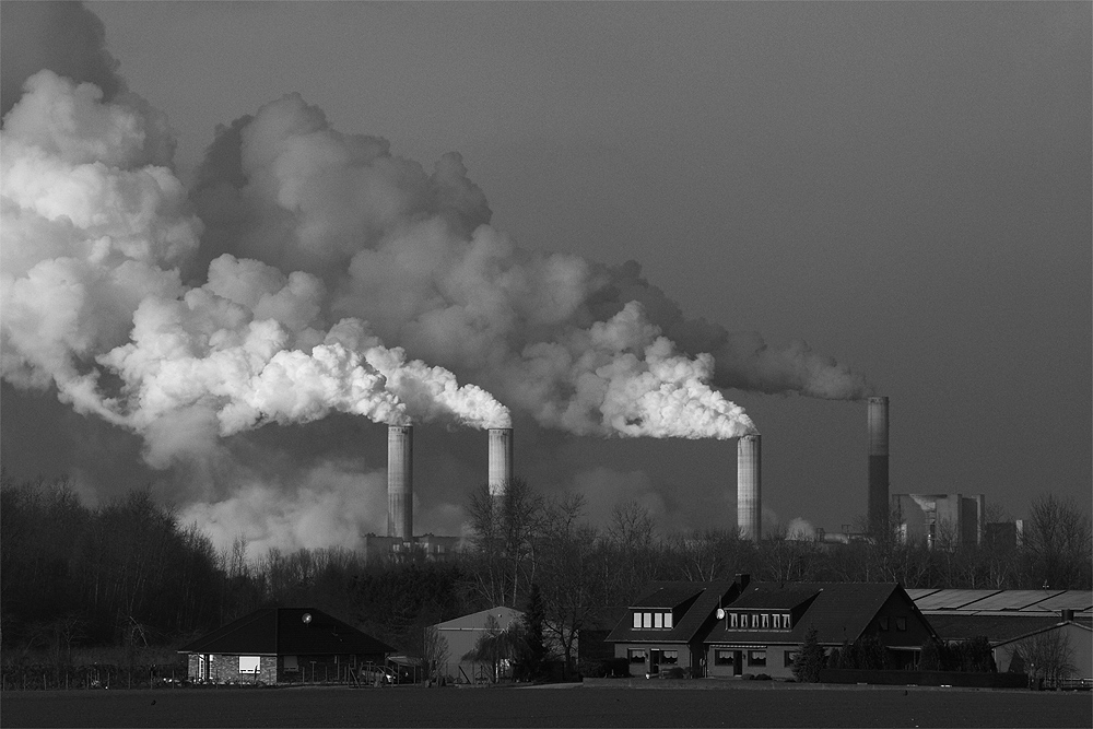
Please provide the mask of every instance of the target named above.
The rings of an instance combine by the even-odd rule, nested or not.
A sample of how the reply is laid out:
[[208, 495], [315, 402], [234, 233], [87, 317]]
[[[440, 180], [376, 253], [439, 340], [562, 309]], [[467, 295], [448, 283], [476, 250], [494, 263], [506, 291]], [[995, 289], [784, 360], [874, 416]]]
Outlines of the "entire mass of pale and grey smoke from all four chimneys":
[[754, 426], [717, 388], [869, 393], [807, 344], [686, 319], [633, 261], [516, 247], [458, 154], [426, 172], [297, 94], [221, 127], [187, 190], [98, 20], [40, 12], [20, 22], [64, 25], [85, 57], [43, 66], [86, 75], [39, 71], [14, 103], [5, 69], [0, 372], [140, 433], [155, 467], [331, 411], [732, 438]]

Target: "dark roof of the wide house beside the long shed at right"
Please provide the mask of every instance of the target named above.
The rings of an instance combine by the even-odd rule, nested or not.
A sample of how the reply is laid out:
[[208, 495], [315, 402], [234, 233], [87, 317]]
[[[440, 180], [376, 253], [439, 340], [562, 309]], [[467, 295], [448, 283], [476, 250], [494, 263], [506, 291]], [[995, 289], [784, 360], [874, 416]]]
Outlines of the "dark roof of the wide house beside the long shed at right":
[[[901, 595], [914, 609], [914, 602], [895, 583], [753, 583], [727, 609], [745, 607], [772, 610], [800, 604], [801, 596], [814, 596], [808, 610], [789, 631], [740, 630], [717, 621], [705, 636], [705, 643], [800, 644], [806, 632], [816, 628], [816, 639], [826, 645], [853, 643], [869, 626], [870, 621], [893, 595]], [[783, 607], [779, 607], [783, 605]], [[918, 613], [918, 610], [915, 609]], [[918, 613], [921, 616], [921, 613]], [[926, 621], [924, 620], [924, 623]], [[926, 623], [929, 625], [929, 623]], [[932, 628], [931, 628], [932, 631]]]

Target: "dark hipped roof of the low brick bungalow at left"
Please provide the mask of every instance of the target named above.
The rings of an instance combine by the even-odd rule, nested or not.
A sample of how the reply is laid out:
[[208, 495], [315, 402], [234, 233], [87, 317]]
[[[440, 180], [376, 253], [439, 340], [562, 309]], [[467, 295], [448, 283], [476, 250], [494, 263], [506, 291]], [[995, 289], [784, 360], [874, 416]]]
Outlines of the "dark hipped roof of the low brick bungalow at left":
[[[304, 615], [310, 615], [304, 622]], [[178, 652], [250, 656], [389, 654], [395, 648], [315, 608], [262, 608]]]

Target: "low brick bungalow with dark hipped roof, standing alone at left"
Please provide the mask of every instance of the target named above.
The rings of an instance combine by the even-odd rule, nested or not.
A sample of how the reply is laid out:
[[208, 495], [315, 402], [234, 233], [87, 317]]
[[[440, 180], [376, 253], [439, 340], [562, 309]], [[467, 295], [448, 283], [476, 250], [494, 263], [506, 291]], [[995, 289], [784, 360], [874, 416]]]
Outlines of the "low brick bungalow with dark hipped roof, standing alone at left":
[[395, 649], [315, 608], [262, 608], [178, 652], [191, 681], [270, 684], [357, 681]]

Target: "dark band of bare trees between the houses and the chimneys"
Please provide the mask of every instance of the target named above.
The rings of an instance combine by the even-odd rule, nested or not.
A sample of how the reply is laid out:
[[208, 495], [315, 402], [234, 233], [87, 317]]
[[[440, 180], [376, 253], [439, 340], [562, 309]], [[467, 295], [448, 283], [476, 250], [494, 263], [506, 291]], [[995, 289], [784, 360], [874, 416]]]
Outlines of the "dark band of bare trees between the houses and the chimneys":
[[734, 530], [661, 533], [636, 503], [588, 524], [579, 496], [524, 481], [503, 497], [467, 498], [468, 545], [445, 562], [410, 554], [365, 560], [343, 549], [223, 551], [179, 524], [149, 491], [90, 508], [64, 481], [0, 483], [0, 628], [5, 661], [71, 663], [86, 646], [177, 647], [262, 607], [307, 604], [348, 619], [412, 655], [427, 626], [495, 605], [527, 609], [572, 665], [577, 632], [610, 627], [618, 609], [658, 579], [897, 581], [906, 588], [1090, 589], [1090, 519], [1047, 494], [1019, 544], [895, 538], [827, 543]]

